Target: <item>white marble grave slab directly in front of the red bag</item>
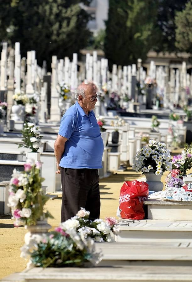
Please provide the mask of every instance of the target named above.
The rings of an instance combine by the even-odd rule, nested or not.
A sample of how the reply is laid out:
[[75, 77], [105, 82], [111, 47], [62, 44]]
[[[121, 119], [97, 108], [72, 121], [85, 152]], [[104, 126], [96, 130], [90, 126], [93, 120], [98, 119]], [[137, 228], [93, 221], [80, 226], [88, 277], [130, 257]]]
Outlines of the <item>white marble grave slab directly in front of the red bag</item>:
[[192, 221], [176, 220], [128, 220], [119, 219], [120, 234], [115, 236], [117, 242], [163, 242], [192, 240]]

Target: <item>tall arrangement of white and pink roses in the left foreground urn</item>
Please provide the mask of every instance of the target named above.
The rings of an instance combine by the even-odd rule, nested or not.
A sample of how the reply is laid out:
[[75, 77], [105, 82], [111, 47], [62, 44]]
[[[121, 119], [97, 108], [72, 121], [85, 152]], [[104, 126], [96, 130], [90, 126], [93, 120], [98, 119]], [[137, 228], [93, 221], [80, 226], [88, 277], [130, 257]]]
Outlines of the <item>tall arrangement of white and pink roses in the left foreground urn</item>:
[[51, 217], [49, 212], [44, 211], [44, 205], [49, 199], [43, 195], [41, 183], [44, 178], [40, 177], [41, 163], [34, 163], [28, 159], [24, 164], [24, 171], [13, 170], [9, 184], [8, 206], [11, 208], [14, 226], [36, 225], [37, 221]]

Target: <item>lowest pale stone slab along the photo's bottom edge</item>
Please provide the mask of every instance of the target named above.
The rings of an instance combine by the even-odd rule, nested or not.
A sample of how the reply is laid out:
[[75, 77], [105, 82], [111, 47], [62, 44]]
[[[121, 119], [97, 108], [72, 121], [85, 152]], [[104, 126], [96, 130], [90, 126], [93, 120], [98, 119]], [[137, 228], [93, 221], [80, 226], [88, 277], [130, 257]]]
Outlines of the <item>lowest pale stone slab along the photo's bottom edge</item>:
[[168, 282], [192, 281], [190, 266], [125, 266], [95, 268], [33, 268], [10, 275], [2, 282]]

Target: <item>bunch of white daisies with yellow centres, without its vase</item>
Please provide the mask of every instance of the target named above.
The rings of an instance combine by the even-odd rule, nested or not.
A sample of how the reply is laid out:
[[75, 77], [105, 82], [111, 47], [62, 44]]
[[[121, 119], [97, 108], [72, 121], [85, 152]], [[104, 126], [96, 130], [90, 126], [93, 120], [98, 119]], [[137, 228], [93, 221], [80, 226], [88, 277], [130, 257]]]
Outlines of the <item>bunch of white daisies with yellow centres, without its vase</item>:
[[171, 155], [166, 144], [149, 140], [148, 147], [137, 150], [133, 170], [142, 171], [142, 174], [152, 171], [156, 175], [163, 175], [166, 170], [172, 169]]

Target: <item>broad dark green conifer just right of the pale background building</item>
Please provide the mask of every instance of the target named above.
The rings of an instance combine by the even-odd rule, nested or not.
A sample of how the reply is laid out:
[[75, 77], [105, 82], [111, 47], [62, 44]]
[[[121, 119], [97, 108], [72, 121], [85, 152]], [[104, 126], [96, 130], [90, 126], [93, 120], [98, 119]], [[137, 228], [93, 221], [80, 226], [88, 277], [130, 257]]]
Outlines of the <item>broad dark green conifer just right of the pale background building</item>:
[[109, 0], [104, 51], [110, 68], [146, 59], [159, 36], [156, 18], [155, 0]]

